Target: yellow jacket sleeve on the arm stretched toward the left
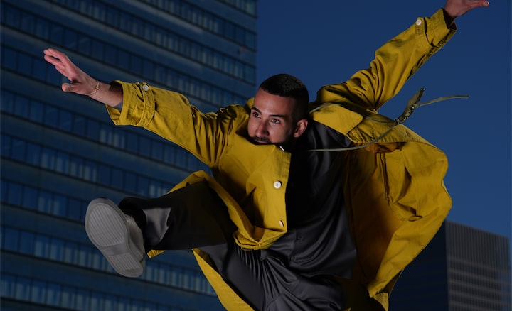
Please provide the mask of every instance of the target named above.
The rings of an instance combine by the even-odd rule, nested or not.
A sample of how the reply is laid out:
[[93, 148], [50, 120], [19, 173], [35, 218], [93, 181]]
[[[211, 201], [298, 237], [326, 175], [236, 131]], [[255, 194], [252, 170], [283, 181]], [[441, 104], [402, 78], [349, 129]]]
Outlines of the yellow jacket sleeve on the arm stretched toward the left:
[[[122, 111], [107, 107], [116, 125], [140, 126], [176, 143], [206, 165], [218, 162], [229, 145], [243, 107], [232, 105], [203, 113], [182, 94], [146, 83], [115, 81], [123, 88]], [[240, 114], [240, 118], [238, 115]]]

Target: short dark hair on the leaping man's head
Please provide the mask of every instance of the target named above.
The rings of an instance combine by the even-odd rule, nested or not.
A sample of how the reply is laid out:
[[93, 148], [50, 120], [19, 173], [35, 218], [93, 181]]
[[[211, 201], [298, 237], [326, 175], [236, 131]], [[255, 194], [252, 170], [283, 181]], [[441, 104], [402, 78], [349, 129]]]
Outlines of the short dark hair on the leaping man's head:
[[299, 78], [280, 73], [267, 78], [260, 84], [260, 89], [272, 95], [295, 99], [294, 121], [308, 116], [309, 93], [306, 85]]

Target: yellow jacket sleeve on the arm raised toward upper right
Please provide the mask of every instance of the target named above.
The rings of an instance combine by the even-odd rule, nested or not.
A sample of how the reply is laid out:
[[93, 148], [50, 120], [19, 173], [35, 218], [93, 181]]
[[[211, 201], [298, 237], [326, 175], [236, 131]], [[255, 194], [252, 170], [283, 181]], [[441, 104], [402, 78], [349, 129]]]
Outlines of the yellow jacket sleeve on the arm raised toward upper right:
[[442, 9], [430, 18], [417, 18], [414, 25], [375, 51], [368, 69], [359, 70], [341, 84], [322, 87], [316, 104], [351, 102], [377, 110], [452, 38], [455, 29], [447, 28]]

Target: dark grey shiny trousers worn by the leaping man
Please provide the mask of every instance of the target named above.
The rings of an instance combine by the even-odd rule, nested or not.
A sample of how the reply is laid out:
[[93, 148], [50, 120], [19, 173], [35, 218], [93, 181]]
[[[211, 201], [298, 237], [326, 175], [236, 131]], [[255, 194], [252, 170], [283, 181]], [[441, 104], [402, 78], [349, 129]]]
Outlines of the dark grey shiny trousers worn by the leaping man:
[[333, 277], [295, 273], [272, 247], [240, 249], [225, 204], [206, 182], [149, 200], [127, 197], [119, 208], [141, 227], [146, 251], [205, 251], [225, 282], [255, 310], [343, 310], [343, 289]]

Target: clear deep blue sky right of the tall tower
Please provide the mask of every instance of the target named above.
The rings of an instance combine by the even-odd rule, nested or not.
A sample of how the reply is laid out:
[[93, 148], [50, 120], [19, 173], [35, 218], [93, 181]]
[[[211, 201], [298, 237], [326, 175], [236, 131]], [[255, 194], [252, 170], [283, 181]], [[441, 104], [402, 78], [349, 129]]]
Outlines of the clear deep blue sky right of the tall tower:
[[[368, 67], [375, 49], [444, 1], [262, 0], [258, 6], [258, 82], [287, 72], [314, 95]], [[468, 94], [420, 107], [405, 125], [447, 153], [445, 183], [453, 199], [448, 219], [508, 238], [511, 13], [511, 1], [499, 0], [457, 18], [454, 38], [380, 111], [400, 115], [421, 87], [422, 102]]]

